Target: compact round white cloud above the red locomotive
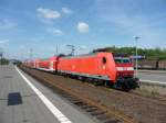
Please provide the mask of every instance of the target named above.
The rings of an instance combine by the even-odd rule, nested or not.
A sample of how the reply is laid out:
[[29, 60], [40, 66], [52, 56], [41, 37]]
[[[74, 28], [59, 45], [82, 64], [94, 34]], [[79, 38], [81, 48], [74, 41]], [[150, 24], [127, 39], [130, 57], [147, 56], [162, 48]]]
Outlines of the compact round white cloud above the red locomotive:
[[86, 24], [84, 22], [79, 22], [77, 23], [77, 31], [80, 33], [87, 33], [89, 32], [89, 24]]

